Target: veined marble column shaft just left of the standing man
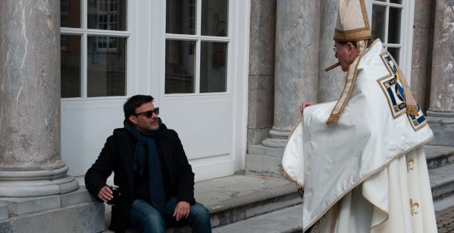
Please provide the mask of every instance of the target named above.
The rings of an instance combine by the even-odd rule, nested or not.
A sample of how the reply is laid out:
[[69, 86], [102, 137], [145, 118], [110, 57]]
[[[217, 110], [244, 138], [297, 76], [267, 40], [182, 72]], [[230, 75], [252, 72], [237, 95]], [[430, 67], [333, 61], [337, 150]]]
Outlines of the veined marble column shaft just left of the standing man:
[[273, 130], [290, 132], [302, 101], [316, 101], [319, 1], [277, 1]]

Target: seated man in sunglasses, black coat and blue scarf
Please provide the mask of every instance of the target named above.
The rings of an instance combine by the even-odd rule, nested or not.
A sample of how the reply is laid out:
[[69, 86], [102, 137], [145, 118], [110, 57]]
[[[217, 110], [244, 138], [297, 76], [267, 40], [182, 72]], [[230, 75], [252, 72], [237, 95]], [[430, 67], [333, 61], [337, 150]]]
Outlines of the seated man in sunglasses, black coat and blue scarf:
[[[116, 199], [109, 229], [164, 232], [190, 225], [193, 232], [211, 232], [208, 210], [194, 199], [194, 173], [180, 138], [158, 117], [153, 97], [130, 97], [123, 110], [125, 127], [107, 138], [85, 174], [85, 185], [98, 201]], [[118, 197], [106, 184], [112, 171]]]

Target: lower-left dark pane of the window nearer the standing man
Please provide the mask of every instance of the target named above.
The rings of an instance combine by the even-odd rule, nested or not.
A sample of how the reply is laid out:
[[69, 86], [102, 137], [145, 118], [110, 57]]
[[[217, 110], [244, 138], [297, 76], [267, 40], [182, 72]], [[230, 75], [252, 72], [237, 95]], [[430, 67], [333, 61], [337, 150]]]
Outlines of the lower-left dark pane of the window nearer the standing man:
[[166, 40], [165, 93], [194, 93], [195, 41]]

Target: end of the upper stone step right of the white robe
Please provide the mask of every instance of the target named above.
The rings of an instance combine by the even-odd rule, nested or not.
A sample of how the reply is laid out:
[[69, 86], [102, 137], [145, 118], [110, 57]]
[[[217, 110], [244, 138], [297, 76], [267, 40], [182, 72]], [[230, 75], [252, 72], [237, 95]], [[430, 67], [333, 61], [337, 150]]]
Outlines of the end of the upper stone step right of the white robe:
[[454, 163], [454, 147], [424, 145], [424, 151], [429, 169]]

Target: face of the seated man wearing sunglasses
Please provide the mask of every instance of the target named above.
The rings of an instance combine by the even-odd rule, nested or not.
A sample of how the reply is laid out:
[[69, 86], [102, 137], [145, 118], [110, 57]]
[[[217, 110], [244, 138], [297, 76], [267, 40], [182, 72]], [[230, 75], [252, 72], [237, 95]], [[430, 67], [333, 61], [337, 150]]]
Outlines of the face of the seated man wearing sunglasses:
[[[147, 114], [144, 113], [154, 109], [155, 106], [153, 106], [153, 103], [142, 103], [139, 108], [136, 108], [137, 115], [129, 116], [129, 121], [131, 121], [133, 125], [136, 126], [136, 129], [140, 132], [151, 132], [158, 130], [158, 115], [153, 112], [150, 117], [147, 117]], [[142, 112], [142, 114], [138, 114], [140, 112]]]

